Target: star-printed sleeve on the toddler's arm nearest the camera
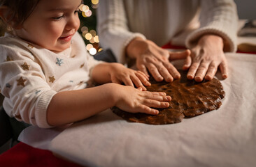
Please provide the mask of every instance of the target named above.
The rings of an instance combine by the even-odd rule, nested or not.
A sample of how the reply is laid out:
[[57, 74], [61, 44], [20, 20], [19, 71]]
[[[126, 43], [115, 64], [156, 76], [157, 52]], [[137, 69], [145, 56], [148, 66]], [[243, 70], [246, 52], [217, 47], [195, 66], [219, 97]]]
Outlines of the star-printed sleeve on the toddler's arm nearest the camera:
[[0, 87], [8, 116], [38, 127], [47, 122], [48, 104], [57, 93], [46, 83], [41, 66], [24, 49], [0, 45]]

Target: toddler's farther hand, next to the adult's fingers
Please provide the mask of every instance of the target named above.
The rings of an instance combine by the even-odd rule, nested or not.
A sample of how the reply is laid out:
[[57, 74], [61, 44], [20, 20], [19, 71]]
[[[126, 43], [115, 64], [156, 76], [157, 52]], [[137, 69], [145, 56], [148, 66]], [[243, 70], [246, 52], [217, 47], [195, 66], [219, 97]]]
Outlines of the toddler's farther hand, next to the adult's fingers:
[[120, 63], [111, 63], [111, 81], [115, 84], [125, 84], [126, 86], [134, 85], [142, 90], [146, 90], [145, 86], [150, 86], [149, 77], [141, 71], [136, 71], [125, 67]]

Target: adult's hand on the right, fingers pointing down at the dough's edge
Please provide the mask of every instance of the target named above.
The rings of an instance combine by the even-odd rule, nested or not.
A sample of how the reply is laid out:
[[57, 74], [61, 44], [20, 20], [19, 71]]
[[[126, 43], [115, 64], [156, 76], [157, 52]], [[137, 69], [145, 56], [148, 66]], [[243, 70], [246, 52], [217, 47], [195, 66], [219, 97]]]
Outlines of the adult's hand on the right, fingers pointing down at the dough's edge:
[[187, 79], [195, 81], [211, 80], [220, 67], [222, 78], [227, 78], [227, 59], [223, 51], [224, 42], [218, 35], [204, 35], [197, 45], [191, 49], [183, 65], [183, 70], [189, 69]]

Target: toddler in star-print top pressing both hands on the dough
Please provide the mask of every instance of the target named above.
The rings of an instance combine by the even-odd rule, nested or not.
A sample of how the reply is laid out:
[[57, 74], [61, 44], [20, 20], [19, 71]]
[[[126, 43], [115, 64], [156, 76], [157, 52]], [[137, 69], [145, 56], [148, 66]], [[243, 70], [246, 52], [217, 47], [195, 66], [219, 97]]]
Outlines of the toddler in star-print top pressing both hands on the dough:
[[[112, 106], [148, 114], [159, 112], [152, 108], [168, 107], [171, 97], [165, 93], [143, 91], [150, 86], [143, 72], [96, 61], [87, 53], [76, 32], [80, 3], [0, 0], [8, 29], [0, 38], [0, 88], [8, 116], [55, 127]], [[101, 86], [87, 88], [89, 81]]]

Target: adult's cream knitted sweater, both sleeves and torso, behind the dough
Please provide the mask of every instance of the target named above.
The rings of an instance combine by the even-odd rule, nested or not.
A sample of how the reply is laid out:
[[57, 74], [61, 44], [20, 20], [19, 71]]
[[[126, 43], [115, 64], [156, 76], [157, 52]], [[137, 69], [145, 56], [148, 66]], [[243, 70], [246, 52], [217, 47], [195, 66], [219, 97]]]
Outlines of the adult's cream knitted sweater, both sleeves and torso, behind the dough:
[[111, 48], [121, 63], [135, 37], [162, 46], [191, 29], [183, 43], [187, 48], [201, 35], [213, 33], [225, 40], [224, 51], [236, 51], [238, 17], [232, 0], [104, 0], [97, 15], [101, 46]]

